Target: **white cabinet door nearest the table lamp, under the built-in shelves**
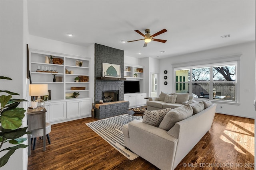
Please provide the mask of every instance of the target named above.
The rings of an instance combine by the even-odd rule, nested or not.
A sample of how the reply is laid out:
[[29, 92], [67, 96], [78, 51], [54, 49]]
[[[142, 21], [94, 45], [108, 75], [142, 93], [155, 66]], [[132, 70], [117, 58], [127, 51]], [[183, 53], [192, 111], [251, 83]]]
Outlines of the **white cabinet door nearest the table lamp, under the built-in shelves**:
[[50, 121], [66, 119], [66, 102], [50, 103]]

